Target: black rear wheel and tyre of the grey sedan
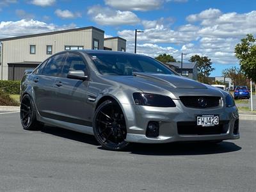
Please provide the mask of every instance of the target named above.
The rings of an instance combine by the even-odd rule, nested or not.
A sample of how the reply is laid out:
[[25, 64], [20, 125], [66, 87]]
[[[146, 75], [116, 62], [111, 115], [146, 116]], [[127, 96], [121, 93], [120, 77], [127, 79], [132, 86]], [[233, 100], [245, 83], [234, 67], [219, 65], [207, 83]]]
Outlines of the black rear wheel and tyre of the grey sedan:
[[40, 130], [44, 124], [36, 120], [35, 104], [29, 95], [24, 95], [20, 102], [20, 122], [25, 130]]

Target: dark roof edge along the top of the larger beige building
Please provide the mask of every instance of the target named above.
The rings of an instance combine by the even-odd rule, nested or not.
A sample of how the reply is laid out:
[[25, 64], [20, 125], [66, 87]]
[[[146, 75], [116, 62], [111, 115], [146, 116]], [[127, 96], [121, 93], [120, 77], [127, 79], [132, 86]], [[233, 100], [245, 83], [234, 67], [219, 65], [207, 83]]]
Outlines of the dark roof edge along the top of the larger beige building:
[[35, 37], [35, 36], [54, 35], [54, 34], [58, 34], [58, 33], [67, 33], [67, 32], [72, 32], [72, 31], [81, 31], [81, 30], [86, 30], [86, 29], [95, 29], [97, 31], [100, 31], [100, 32], [104, 33], [104, 31], [99, 29], [99, 28], [89, 26], [89, 27], [85, 27], [85, 28], [66, 29], [66, 30], [61, 30], [61, 31], [51, 31], [51, 32], [47, 32], [47, 33], [38, 33], [38, 34], [32, 34], [32, 35], [2, 38], [2, 39], [0, 39], [0, 42], [4, 42], [4, 41], [8, 41], [8, 40], [16, 40], [16, 39], [20, 39], [20, 38], [29, 38], [29, 37]]

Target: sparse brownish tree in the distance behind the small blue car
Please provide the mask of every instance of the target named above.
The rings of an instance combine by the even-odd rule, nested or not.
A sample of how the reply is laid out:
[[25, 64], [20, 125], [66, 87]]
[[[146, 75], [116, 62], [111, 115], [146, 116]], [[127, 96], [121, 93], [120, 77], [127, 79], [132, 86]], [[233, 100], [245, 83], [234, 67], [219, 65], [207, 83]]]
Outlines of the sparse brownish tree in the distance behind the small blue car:
[[244, 73], [241, 70], [241, 68], [237, 68], [237, 67], [226, 68], [225, 70], [222, 71], [222, 75], [223, 77], [229, 77], [235, 86], [248, 85], [246, 76], [244, 76]]

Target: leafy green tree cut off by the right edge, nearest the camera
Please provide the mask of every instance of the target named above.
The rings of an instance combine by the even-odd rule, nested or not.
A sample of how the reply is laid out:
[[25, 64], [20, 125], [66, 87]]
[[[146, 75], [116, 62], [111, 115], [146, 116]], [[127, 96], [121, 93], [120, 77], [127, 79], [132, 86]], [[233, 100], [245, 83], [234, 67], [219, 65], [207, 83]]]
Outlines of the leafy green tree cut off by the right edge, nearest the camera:
[[247, 34], [235, 47], [236, 57], [246, 77], [256, 82], [256, 38]]

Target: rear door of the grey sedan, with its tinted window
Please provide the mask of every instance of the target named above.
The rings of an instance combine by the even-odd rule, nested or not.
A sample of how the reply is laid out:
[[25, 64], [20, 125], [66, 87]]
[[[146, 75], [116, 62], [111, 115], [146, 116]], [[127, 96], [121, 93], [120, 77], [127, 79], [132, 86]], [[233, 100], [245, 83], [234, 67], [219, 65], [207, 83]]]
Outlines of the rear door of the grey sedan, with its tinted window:
[[60, 76], [67, 53], [57, 54], [43, 63], [33, 76], [36, 108], [40, 115], [49, 117], [56, 111], [56, 88], [54, 81]]

